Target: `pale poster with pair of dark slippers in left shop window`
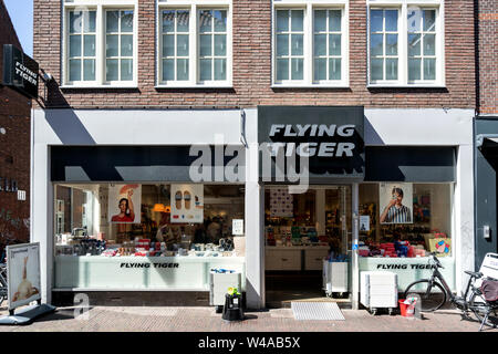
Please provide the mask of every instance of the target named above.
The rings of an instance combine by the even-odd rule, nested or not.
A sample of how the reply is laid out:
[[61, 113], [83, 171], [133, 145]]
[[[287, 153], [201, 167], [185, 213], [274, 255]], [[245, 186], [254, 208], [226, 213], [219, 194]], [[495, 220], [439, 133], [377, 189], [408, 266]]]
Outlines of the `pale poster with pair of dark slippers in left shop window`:
[[172, 222], [204, 222], [203, 185], [172, 185]]

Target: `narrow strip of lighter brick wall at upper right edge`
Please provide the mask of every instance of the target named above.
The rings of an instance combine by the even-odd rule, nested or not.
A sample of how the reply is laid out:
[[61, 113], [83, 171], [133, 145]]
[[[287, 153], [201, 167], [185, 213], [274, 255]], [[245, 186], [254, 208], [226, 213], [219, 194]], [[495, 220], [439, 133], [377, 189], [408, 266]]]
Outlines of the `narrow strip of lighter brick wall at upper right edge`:
[[498, 1], [479, 0], [478, 67], [479, 114], [498, 114]]

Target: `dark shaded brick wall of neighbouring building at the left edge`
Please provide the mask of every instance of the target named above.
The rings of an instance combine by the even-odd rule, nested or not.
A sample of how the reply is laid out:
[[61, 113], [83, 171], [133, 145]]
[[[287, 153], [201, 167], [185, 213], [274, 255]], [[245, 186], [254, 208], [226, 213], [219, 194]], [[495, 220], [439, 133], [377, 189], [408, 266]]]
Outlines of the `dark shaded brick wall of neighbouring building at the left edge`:
[[[1, 59], [3, 44], [21, 48], [6, 6], [0, 0]], [[2, 65], [3, 60], [0, 60], [0, 73]], [[31, 100], [0, 85], [0, 127], [7, 131], [6, 134], [0, 134], [0, 177], [17, 180], [18, 188], [27, 191], [24, 201], [18, 200], [17, 192], [0, 191], [0, 248], [7, 239], [29, 241], [30, 115]], [[4, 180], [2, 187], [4, 188]]]

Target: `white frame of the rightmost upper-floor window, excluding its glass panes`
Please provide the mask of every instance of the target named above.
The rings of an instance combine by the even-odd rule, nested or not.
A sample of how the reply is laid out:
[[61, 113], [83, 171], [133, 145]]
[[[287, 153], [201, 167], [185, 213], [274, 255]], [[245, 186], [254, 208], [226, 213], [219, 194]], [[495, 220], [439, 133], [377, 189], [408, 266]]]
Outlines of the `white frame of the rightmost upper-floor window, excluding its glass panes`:
[[[367, 0], [366, 3], [366, 65], [367, 87], [446, 87], [445, 77], [445, 28], [444, 28], [444, 1], [443, 0]], [[418, 7], [421, 10], [436, 10], [436, 80], [408, 81], [408, 8]], [[370, 14], [371, 9], [397, 9], [398, 12], [398, 75], [397, 80], [371, 80], [371, 53], [370, 53]], [[422, 49], [421, 49], [422, 50]]]

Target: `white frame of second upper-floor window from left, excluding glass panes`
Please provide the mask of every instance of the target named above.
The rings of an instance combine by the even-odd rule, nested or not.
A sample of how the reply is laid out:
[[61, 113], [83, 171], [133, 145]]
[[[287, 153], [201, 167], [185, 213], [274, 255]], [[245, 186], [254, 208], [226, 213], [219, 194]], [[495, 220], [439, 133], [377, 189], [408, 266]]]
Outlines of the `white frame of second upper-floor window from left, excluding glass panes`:
[[[156, 1], [156, 88], [181, 87], [214, 87], [232, 88], [232, 0], [157, 0]], [[163, 81], [163, 10], [189, 10], [189, 62], [188, 80]], [[226, 10], [227, 11], [227, 75], [226, 80], [200, 81], [200, 41], [199, 41], [199, 10]], [[214, 75], [214, 73], [212, 73]], [[214, 77], [214, 76], [212, 76]]]

